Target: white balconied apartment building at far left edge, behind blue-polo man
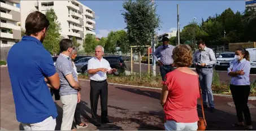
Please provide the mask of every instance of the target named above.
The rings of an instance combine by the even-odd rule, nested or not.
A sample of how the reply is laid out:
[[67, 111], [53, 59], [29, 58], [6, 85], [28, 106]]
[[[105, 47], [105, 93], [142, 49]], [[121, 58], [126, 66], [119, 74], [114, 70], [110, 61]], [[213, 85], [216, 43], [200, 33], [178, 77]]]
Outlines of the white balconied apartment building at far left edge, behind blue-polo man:
[[0, 43], [1, 46], [12, 46], [21, 40], [19, 1], [0, 0]]

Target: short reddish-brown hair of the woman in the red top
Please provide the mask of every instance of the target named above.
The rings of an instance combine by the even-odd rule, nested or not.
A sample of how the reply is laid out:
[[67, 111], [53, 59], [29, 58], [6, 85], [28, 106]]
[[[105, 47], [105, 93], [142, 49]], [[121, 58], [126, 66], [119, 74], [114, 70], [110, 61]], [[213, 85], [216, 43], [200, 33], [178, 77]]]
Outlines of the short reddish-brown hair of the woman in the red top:
[[172, 51], [173, 63], [177, 67], [190, 67], [192, 65], [192, 50], [188, 45], [178, 45]]

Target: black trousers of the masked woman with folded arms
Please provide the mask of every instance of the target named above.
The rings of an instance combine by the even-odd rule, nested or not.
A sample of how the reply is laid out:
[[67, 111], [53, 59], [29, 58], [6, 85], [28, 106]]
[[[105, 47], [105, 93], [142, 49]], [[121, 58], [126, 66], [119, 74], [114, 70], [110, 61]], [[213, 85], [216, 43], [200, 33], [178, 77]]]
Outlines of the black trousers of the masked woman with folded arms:
[[242, 116], [244, 113], [246, 125], [251, 125], [250, 110], [247, 106], [248, 97], [250, 95], [250, 85], [230, 85], [230, 90], [236, 106], [236, 116], [238, 121], [244, 121]]

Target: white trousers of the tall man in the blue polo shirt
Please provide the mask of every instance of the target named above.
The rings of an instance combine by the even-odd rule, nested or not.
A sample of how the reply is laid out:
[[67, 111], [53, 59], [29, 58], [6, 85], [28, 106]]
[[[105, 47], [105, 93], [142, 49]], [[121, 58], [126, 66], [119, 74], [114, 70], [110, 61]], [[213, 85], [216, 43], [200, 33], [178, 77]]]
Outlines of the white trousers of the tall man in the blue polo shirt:
[[24, 130], [55, 130], [56, 119], [50, 116], [40, 123], [21, 123], [21, 125], [23, 125]]

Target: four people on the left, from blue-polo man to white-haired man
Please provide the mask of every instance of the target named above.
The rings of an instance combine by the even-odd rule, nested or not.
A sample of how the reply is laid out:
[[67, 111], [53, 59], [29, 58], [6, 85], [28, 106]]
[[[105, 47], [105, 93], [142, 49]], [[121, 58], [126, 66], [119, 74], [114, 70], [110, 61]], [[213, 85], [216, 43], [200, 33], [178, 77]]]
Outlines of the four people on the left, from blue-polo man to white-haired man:
[[[17, 120], [25, 130], [55, 130], [57, 108], [53, 101], [63, 104], [63, 117], [60, 130], [75, 130], [85, 128], [81, 122], [81, 90], [78, 73], [73, 60], [77, 50], [70, 39], [59, 42], [60, 54], [54, 65], [50, 53], [42, 42], [50, 22], [39, 11], [32, 12], [25, 20], [25, 33], [20, 42], [11, 47], [8, 57], [8, 72]], [[104, 48], [97, 46], [95, 57], [88, 61], [90, 76], [90, 105], [94, 125], [111, 123], [107, 116], [107, 75], [116, 72], [103, 59]], [[17, 65], [19, 65], [17, 67]], [[50, 90], [49, 90], [50, 88]], [[98, 99], [101, 97], [101, 123], [97, 120]]]

